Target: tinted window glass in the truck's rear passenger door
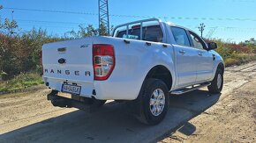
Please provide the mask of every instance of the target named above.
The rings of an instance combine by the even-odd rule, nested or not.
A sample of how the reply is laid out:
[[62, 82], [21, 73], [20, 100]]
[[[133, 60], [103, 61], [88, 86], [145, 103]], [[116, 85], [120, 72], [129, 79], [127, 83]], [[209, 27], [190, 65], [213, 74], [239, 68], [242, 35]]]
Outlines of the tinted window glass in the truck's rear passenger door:
[[184, 29], [178, 27], [170, 27], [170, 30], [176, 40], [177, 45], [191, 46], [187, 34]]

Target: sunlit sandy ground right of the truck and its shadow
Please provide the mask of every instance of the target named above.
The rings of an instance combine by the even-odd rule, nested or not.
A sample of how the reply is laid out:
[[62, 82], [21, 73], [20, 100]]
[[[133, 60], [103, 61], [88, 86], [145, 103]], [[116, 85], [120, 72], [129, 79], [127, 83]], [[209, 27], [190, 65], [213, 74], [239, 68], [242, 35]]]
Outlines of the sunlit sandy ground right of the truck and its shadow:
[[227, 68], [219, 101], [160, 142], [256, 142], [256, 62]]

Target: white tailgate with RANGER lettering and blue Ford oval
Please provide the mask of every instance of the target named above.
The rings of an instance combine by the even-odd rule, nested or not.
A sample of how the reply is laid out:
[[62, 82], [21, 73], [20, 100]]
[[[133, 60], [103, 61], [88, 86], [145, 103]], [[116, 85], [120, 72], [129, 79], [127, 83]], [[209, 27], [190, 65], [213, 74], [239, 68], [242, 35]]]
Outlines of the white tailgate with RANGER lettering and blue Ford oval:
[[73, 39], [43, 45], [43, 76], [67, 82], [93, 82], [92, 46], [92, 38]]

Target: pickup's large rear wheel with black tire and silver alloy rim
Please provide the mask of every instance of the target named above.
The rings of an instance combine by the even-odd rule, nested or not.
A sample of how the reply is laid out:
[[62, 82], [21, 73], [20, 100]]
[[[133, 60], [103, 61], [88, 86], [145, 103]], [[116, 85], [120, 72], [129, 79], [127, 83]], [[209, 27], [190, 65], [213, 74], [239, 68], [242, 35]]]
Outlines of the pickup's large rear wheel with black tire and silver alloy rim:
[[[162, 102], [163, 97], [165, 102]], [[150, 105], [150, 101], [154, 101], [152, 102], [154, 104]], [[169, 109], [169, 90], [166, 84], [159, 79], [146, 79], [140, 89], [139, 97], [132, 101], [132, 108], [135, 117], [141, 123], [146, 125], [160, 123]]]

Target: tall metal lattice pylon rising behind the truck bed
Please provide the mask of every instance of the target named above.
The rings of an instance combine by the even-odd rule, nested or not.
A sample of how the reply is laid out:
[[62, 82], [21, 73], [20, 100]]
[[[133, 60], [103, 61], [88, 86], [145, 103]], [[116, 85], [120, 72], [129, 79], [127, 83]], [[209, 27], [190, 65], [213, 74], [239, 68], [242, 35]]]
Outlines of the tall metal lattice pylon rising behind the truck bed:
[[[101, 25], [107, 27], [109, 35], [109, 4], [108, 0], [99, 0], [99, 31], [101, 31]], [[101, 33], [101, 32], [99, 32]]]

